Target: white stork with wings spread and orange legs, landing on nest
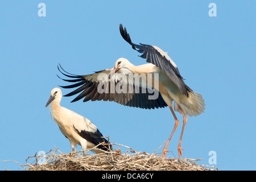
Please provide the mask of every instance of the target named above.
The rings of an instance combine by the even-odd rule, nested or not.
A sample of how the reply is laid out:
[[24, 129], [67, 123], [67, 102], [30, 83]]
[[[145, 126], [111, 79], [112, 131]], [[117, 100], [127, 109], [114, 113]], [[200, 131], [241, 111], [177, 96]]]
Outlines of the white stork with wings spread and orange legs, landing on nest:
[[[84, 102], [86, 101], [114, 101], [119, 104], [125, 105], [125, 106], [132, 106], [132, 107], [140, 107], [143, 109], [154, 109], [159, 107], [166, 107], [168, 106], [171, 110], [172, 115], [174, 115], [175, 119], [175, 125], [174, 129], [171, 132], [170, 138], [167, 140], [166, 146], [163, 148], [163, 157], [167, 156], [167, 146], [172, 138], [172, 135], [174, 134], [177, 126], [179, 125], [179, 121], [174, 113], [175, 111], [179, 111], [183, 115], [183, 127], [181, 130], [180, 140], [178, 144], [178, 152], [179, 152], [179, 158], [182, 156], [181, 152], [181, 139], [183, 136], [183, 131], [185, 128], [185, 124], [187, 123], [187, 117], [189, 116], [196, 116], [204, 112], [205, 104], [202, 96], [196, 92], [193, 92], [191, 88], [189, 88], [185, 83], [183, 77], [181, 77], [179, 69], [177, 68], [174, 61], [171, 60], [171, 58], [167, 55], [167, 52], [162, 51], [159, 47], [156, 46], [150, 46], [146, 44], [134, 44], [131, 42], [130, 35], [127, 34], [126, 28], [123, 29], [122, 24], [120, 24], [120, 32], [123, 37], [123, 39], [128, 42], [133, 49], [138, 51], [139, 53], [142, 53], [141, 57], [146, 59], [148, 64], [138, 65], [135, 66], [131, 64], [127, 59], [120, 58], [115, 62], [115, 66], [113, 69], [105, 69], [99, 72], [96, 72], [91, 75], [72, 75], [71, 73], [68, 73], [69, 75], [63, 73], [63, 75], [76, 78], [73, 80], [64, 80], [69, 82], [78, 82], [77, 84], [68, 85], [68, 86], [62, 86], [63, 88], [76, 88], [77, 86], [80, 86], [73, 92], [65, 95], [65, 96], [73, 96], [74, 94], [80, 93], [79, 96], [77, 96], [72, 102], [78, 101], [81, 98], [84, 98]], [[61, 67], [60, 67], [61, 68]], [[63, 69], [63, 68], [61, 68]], [[64, 71], [64, 69], [63, 69]], [[65, 71], [64, 71], [65, 72]], [[122, 84], [129, 85], [130, 83], [133, 84], [133, 92], [127, 92], [127, 93], [99, 93], [97, 88], [98, 85], [101, 83], [101, 80], [97, 79], [97, 77], [101, 73], [106, 73], [109, 75], [109, 78], [113, 75], [115, 76], [115, 85], [117, 85], [119, 82], [122, 82]], [[159, 76], [159, 97], [155, 100], [148, 100], [148, 96], [150, 96], [149, 92], [134, 92], [135, 88], [139, 88], [141, 91], [144, 87], [155, 87], [154, 82], [152, 82], [151, 85], [147, 85], [148, 82], [147, 77], [146, 80], [140, 80], [139, 82], [130, 80], [130, 78], [121, 79], [122, 75], [129, 75], [131, 73], [136, 73], [137, 75], [142, 73], [158, 73]], [[111, 79], [108, 80], [111, 82]], [[130, 84], [130, 85], [131, 85]], [[127, 86], [128, 87], [128, 86]], [[110, 90], [110, 89], [109, 89]], [[174, 101], [174, 106], [172, 106], [172, 101]], [[174, 109], [172, 109], [174, 107]]]

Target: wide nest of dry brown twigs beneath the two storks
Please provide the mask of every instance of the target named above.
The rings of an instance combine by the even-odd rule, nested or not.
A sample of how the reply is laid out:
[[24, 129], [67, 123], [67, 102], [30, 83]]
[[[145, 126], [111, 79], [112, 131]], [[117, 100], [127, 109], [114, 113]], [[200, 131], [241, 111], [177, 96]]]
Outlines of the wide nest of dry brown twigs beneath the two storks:
[[[29, 156], [27, 165], [21, 165], [26, 171], [214, 171], [215, 166], [198, 165], [201, 159], [170, 159], [162, 155], [137, 152], [122, 144], [112, 152], [89, 154], [91, 150], [81, 150], [64, 154], [56, 148], [46, 154]], [[120, 147], [129, 151], [121, 153]], [[160, 147], [159, 147], [160, 148]], [[95, 148], [94, 148], [95, 150]], [[60, 153], [60, 154], [57, 154]], [[92, 152], [91, 152], [92, 153]], [[44, 162], [42, 163], [42, 159]], [[32, 162], [28, 162], [31, 161]]]

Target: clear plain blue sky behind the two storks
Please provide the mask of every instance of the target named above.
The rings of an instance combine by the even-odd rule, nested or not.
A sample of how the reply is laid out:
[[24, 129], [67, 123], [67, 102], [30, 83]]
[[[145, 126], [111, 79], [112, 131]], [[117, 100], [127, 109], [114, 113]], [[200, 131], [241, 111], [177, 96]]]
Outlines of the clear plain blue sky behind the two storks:
[[[46, 16], [38, 16], [38, 4]], [[210, 17], [209, 3], [217, 16]], [[50, 92], [66, 83], [57, 64], [68, 72], [86, 75], [114, 67], [126, 57], [138, 57], [119, 34], [119, 23], [134, 43], [158, 46], [175, 61], [185, 83], [203, 95], [205, 113], [188, 117], [181, 147], [183, 157], [217, 155], [220, 170], [255, 170], [255, 1], [1, 1], [0, 160], [26, 164], [27, 156], [69, 141], [45, 107]], [[67, 94], [71, 90], [63, 89]], [[144, 110], [114, 102], [61, 105], [90, 119], [110, 141], [152, 153], [170, 136], [174, 118], [168, 107]], [[180, 125], [172, 138], [169, 157], [178, 157]], [[78, 147], [78, 149], [80, 149]], [[162, 152], [163, 147], [158, 152]], [[252, 161], [254, 160], [254, 161]], [[0, 170], [22, 169], [0, 162]]]

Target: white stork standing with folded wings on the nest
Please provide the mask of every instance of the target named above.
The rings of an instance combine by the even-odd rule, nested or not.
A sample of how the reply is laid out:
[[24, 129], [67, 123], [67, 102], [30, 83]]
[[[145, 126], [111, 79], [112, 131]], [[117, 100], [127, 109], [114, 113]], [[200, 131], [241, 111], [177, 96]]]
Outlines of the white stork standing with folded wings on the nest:
[[[97, 146], [104, 151], [112, 150], [109, 142], [103, 138], [97, 127], [87, 118], [60, 106], [62, 92], [60, 88], [54, 88], [51, 91], [46, 107], [51, 104], [51, 115], [53, 121], [57, 123], [61, 133], [69, 139], [72, 151], [76, 150], [76, 144], [79, 144], [83, 150]], [[103, 144], [105, 143], [105, 144]], [[101, 153], [101, 150], [92, 150]]]

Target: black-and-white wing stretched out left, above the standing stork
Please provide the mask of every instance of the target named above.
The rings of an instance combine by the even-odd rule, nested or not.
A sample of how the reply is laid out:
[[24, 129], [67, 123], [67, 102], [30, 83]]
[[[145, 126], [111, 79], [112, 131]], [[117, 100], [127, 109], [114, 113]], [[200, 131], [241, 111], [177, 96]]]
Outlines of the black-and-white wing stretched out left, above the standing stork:
[[[139, 107], [143, 109], [155, 109], [159, 107], [166, 107], [163, 97], [160, 93], [155, 100], [149, 100], [148, 97], [152, 94], [152, 89], [142, 79], [135, 79], [136, 75], [128, 69], [120, 69], [112, 78], [108, 78], [112, 69], [104, 69], [90, 75], [73, 75], [65, 72], [61, 66], [58, 66], [59, 71], [71, 80], [63, 79], [67, 82], [76, 82], [68, 86], [61, 86], [62, 88], [76, 88], [71, 93], [65, 96], [74, 96], [79, 94], [72, 102], [76, 102], [84, 98], [86, 101], [114, 101], [130, 107]], [[132, 76], [130, 76], [132, 75]], [[121, 89], [122, 92], [117, 92], [115, 88]], [[150, 90], [151, 89], [151, 90]], [[120, 90], [119, 90], [120, 91]], [[158, 92], [155, 90], [154, 92]]]

